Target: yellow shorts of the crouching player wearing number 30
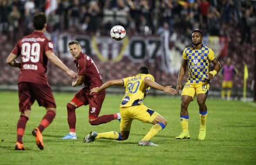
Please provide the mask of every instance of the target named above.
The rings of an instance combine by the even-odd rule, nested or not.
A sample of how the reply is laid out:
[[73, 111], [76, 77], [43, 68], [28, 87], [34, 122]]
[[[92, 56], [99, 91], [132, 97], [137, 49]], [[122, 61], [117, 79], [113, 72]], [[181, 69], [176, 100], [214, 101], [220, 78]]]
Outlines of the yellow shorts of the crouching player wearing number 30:
[[120, 114], [121, 131], [130, 131], [133, 119], [137, 119], [143, 123], [152, 123], [152, 121], [159, 115], [157, 112], [147, 108], [145, 105], [120, 108]]

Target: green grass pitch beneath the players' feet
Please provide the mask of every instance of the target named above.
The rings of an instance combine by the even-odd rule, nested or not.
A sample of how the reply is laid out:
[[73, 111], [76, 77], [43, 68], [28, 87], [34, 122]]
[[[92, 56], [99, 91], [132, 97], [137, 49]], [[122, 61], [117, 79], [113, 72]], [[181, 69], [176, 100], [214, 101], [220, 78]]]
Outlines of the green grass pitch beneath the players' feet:
[[[207, 133], [199, 141], [199, 108], [196, 101], [189, 105], [191, 138], [176, 140], [181, 132], [179, 122], [180, 95], [177, 97], [147, 96], [144, 104], [160, 113], [167, 127], [152, 138], [159, 147], [138, 146], [138, 141], [152, 125], [133, 121], [126, 141], [99, 139], [83, 143], [90, 131], [119, 131], [119, 121], [91, 126], [88, 106], [77, 109], [77, 140], [60, 140], [69, 132], [66, 104], [74, 94], [54, 93], [57, 115], [44, 130], [44, 150], [36, 146], [31, 131], [37, 127], [45, 109], [37, 102], [32, 106], [23, 138], [27, 151], [15, 151], [18, 111], [17, 92], [0, 92], [0, 165], [255, 165], [256, 164], [256, 107], [255, 103], [208, 99]], [[121, 95], [107, 94], [102, 114], [119, 111]]]

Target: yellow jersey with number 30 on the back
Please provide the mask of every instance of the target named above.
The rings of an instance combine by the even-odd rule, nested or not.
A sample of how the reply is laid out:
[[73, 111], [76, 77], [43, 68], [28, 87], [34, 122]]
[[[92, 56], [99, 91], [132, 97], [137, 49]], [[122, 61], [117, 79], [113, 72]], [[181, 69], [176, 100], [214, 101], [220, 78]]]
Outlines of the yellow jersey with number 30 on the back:
[[150, 87], [144, 84], [143, 80], [145, 77], [149, 77], [152, 81], [155, 81], [155, 78], [151, 74], [137, 74], [122, 79], [123, 86], [125, 87], [125, 96], [122, 99], [120, 108], [143, 104], [142, 101], [150, 90]]

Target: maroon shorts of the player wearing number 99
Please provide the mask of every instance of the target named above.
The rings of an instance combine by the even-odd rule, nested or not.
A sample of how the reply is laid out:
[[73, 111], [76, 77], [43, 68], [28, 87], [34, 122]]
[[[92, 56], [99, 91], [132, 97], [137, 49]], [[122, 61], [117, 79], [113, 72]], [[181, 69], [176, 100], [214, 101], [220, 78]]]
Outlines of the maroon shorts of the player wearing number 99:
[[39, 106], [45, 108], [56, 108], [54, 96], [49, 84], [38, 84], [31, 82], [20, 82], [19, 90], [19, 107], [24, 112], [31, 110], [31, 105], [37, 100]]

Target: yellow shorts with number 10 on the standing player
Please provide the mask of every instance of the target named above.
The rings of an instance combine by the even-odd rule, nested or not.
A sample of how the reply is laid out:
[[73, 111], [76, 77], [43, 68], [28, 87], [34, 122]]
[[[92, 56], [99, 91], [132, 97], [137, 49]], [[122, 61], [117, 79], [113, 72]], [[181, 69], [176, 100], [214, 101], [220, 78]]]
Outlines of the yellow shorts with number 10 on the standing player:
[[189, 95], [194, 100], [195, 94], [208, 94], [210, 88], [210, 84], [207, 82], [192, 84], [186, 83], [181, 95]]

